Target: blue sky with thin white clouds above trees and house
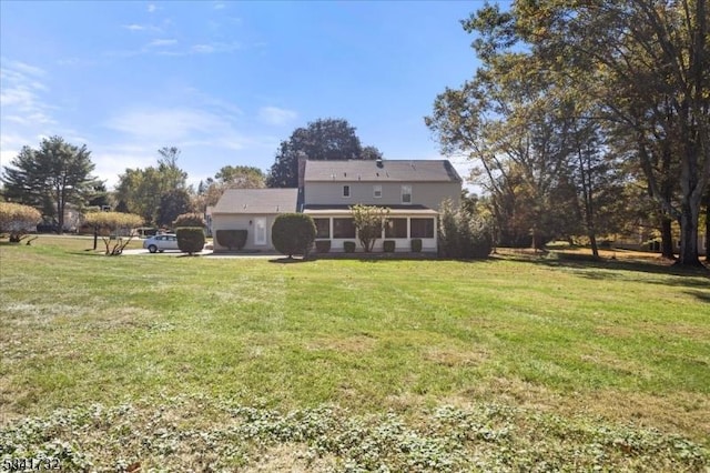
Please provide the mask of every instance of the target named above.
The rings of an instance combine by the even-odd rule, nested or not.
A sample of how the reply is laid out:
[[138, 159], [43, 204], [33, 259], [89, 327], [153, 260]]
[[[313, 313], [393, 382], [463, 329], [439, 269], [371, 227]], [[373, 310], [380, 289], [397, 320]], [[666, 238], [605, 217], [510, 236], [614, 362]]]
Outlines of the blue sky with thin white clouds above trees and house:
[[266, 171], [318, 118], [346, 119], [386, 159], [438, 159], [423, 117], [473, 77], [459, 20], [481, 6], [3, 0], [0, 161], [58, 134], [112, 188], [176, 145], [196, 183], [226, 164]]

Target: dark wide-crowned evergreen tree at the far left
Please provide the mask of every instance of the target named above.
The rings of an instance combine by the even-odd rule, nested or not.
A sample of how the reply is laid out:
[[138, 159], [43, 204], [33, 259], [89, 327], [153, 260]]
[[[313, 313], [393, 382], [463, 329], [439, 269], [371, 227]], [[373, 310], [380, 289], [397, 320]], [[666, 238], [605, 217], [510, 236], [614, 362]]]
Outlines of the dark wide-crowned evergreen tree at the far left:
[[75, 147], [60, 137], [43, 139], [38, 150], [22, 148], [10, 164], [2, 175], [6, 198], [44, 210], [60, 233], [67, 204], [83, 205], [99, 185], [91, 175], [94, 164], [87, 145]]

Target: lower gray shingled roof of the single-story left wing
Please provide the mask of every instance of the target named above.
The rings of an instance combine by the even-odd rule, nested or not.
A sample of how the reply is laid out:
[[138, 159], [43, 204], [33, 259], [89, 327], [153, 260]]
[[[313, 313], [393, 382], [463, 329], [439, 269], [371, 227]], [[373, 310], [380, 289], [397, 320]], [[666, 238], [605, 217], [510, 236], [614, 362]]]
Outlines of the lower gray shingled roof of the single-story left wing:
[[297, 189], [227, 189], [212, 214], [295, 212], [297, 200]]

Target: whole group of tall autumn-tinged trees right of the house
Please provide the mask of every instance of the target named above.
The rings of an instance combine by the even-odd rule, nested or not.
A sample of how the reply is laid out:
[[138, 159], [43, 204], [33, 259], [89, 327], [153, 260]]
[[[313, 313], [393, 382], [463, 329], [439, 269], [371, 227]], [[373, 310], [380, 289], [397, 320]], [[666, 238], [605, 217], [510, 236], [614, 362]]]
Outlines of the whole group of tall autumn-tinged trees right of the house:
[[462, 21], [481, 62], [427, 125], [477, 165], [499, 242], [651, 221], [663, 254], [699, 265], [710, 233], [710, 24], [706, 0], [486, 4]]

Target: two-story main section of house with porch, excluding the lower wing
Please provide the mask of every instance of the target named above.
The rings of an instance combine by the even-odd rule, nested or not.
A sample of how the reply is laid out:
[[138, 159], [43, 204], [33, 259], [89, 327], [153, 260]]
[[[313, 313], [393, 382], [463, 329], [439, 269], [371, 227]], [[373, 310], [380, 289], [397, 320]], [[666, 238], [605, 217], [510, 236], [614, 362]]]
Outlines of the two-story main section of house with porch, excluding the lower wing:
[[349, 208], [355, 204], [386, 207], [389, 218], [373, 251], [392, 240], [395, 251], [437, 251], [438, 210], [445, 199], [458, 208], [462, 179], [447, 160], [305, 161], [300, 167], [303, 189], [300, 211], [311, 215], [316, 241], [331, 241], [331, 251], [344, 251], [356, 242]]

